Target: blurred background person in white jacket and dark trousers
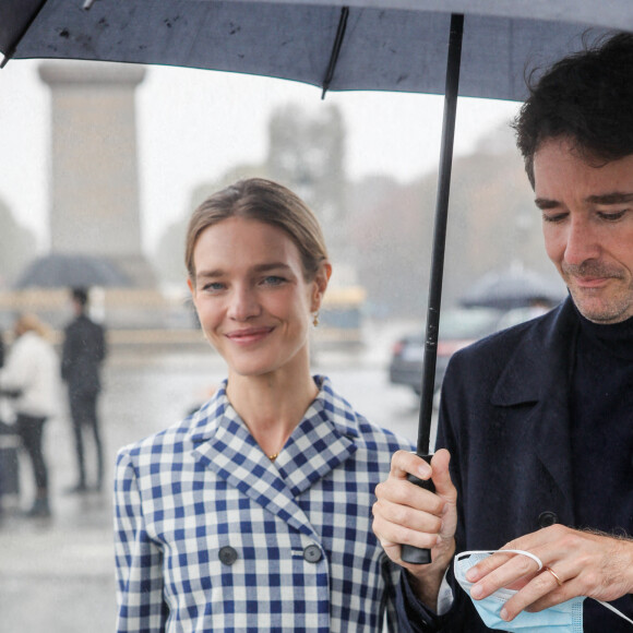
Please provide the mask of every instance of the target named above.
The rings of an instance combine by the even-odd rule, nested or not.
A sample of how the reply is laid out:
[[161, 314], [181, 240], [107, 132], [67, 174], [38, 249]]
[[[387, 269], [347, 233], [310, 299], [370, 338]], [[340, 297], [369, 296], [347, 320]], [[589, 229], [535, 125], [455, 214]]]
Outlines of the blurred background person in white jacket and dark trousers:
[[59, 410], [59, 362], [47, 331], [34, 314], [22, 314], [14, 325], [15, 341], [5, 367], [0, 370], [0, 390], [12, 397], [16, 431], [31, 458], [35, 501], [28, 516], [50, 515], [48, 468], [44, 457], [44, 425]]

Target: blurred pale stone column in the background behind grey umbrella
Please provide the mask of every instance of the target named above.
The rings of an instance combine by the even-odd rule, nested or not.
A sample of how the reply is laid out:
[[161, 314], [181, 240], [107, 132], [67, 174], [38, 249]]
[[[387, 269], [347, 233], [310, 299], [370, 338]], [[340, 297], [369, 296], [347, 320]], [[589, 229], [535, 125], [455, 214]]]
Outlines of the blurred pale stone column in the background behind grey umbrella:
[[135, 286], [153, 286], [141, 244], [134, 103], [145, 69], [51, 61], [39, 76], [51, 96], [51, 251], [110, 258]]

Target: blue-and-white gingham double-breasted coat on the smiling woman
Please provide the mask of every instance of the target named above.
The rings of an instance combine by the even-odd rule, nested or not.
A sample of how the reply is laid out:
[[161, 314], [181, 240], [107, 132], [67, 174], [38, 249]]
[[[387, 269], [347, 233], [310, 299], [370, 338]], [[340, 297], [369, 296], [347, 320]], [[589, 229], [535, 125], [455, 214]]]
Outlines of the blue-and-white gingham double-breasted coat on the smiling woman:
[[[178, 426], [119, 452], [118, 631], [379, 632], [398, 571], [371, 530], [374, 488], [410, 444], [324, 377], [272, 463], [226, 383]], [[390, 626], [391, 629], [391, 626]]]

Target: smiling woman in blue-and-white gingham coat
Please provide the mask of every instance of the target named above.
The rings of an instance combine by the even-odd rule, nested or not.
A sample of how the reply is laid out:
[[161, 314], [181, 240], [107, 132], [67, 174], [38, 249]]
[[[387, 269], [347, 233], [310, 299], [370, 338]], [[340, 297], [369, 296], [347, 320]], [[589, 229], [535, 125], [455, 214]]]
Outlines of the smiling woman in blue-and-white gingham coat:
[[194, 212], [186, 263], [228, 379], [119, 453], [118, 631], [381, 631], [396, 575], [373, 489], [410, 445], [310, 374], [332, 272], [316, 219], [284, 187], [241, 181]]

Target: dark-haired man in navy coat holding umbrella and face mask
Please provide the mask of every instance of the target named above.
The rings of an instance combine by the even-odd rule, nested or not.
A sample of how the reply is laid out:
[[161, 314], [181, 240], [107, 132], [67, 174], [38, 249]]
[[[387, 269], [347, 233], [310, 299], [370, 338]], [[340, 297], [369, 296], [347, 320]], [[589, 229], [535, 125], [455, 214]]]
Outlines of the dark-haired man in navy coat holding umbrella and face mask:
[[[556, 64], [515, 129], [570, 296], [453, 357], [440, 450], [431, 467], [394, 455], [374, 532], [407, 571], [403, 630], [490, 631], [474, 604], [483, 611], [510, 587], [495, 629], [515, 630], [525, 609], [548, 621], [544, 609], [589, 596], [575, 600], [584, 631], [631, 631], [596, 600], [633, 618], [633, 36]], [[407, 473], [432, 477], [435, 493]], [[432, 563], [404, 563], [403, 542], [432, 548]], [[455, 552], [504, 546], [527, 553], [474, 566], [471, 599]], [[578, 630], [570, 613], [561, 631]]]

